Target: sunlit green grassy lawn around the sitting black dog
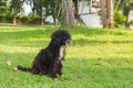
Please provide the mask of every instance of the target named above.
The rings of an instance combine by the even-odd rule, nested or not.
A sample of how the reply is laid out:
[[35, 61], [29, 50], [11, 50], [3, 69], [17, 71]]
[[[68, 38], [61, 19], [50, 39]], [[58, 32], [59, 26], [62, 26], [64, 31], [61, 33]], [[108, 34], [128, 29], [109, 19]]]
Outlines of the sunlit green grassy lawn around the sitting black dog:
[[30, 67], [57, 28], [0, 26], [0, 88], [133, 88], [133, 31], [127, 30], [68, 29], [72, 42], [58, 79], [12, 70]]

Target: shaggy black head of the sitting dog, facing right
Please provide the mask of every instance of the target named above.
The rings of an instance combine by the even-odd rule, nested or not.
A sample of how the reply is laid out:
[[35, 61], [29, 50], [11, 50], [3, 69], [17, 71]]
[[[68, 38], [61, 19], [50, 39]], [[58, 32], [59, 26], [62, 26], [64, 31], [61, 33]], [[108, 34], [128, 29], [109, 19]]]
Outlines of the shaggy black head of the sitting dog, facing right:
[[71, 35], [66, 30], [58, 30], [51, 35], [51, 38], [54, 45], [68, 46], [71, 41]]

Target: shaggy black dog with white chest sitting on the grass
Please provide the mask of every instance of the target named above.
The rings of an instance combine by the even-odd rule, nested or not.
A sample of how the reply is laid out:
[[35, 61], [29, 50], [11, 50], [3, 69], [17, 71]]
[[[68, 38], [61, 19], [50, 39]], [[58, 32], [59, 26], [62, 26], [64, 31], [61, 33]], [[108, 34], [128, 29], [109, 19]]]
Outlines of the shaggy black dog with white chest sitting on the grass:
[[51, 42], [48, 47], [41, 50], [35, 56], [32, 67], [27, 68], [17, 66], [18, 69], [30, 72], [33, 74], [47, 74], [52, 78], [62, 75], [62, 63], [68, 44], [71, 41], [71, 35], [65, 30], [58, 30], [51, 35]]

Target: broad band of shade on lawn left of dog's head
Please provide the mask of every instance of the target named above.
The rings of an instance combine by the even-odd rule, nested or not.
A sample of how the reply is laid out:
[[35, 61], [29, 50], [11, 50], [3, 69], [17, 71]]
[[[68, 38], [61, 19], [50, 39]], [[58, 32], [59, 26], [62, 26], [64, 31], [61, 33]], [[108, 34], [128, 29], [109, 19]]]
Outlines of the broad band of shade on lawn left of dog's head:
[[[0, 44], [14, 46], [43, 46], [48, 45], [54, 28], [37, 30], [19, 30], [13, 32], [0, 32]], [[43, 43], [43, 44], [42, 44]]]

